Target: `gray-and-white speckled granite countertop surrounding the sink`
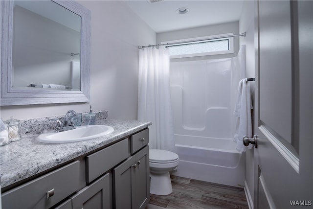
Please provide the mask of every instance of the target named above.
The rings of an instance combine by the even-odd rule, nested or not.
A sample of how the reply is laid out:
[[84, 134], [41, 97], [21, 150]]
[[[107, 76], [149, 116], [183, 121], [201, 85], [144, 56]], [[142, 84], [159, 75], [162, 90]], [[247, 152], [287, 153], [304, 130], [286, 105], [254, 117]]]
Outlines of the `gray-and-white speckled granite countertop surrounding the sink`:
[[36, 136], [32, 136], [1, 146], [1, 187], [9, 186], [131, 135], [147, 128], [151, 122], [105, 119], [97, 121], [96, 124], [112, 126], [114, 132], [97, 139], [63, 144], [40, 143], [36, 140]]

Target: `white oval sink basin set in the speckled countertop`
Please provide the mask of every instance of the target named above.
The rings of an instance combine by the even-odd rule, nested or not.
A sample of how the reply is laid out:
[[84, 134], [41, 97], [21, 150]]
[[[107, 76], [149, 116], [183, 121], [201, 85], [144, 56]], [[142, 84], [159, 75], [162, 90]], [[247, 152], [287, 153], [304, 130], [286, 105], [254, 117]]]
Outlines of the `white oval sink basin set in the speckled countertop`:
[[106, 125], [79, 126], [68, 131], [41, 134], [37, 137], [37, 141], [52, 144], [84, 141], [103, 137], [113, 131], [114, 129], [111, 126]]

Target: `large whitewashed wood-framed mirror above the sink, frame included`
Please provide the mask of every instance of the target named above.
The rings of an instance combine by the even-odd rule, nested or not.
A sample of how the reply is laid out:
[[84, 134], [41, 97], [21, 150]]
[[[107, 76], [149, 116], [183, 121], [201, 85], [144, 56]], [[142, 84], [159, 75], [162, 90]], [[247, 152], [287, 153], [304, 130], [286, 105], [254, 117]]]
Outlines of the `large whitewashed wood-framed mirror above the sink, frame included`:
[[0, 7], [1, 106], [89, 102], [90, 11], [73, 0]]

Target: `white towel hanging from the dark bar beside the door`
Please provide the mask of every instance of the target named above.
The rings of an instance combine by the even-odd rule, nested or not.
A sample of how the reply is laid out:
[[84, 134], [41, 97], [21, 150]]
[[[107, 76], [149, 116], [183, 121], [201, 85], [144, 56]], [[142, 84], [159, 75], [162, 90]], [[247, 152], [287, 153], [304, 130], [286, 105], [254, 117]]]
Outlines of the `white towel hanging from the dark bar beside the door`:
[[249, 144], [247, 147], [243, 144], [244, 136], [252, 137], [251, 109], [253, 109], [253, 107], [250, 84], [247, 82], [247, 79], [244, 78], [239, 82], [237, 103], [234, 111], [234, 115], [239, 117], [239, 123], [237, 122], [236, 133], [234, 136], [236, 149], [239, 152], [246, 152], [246, 148], [252, 148], [252, 144]]

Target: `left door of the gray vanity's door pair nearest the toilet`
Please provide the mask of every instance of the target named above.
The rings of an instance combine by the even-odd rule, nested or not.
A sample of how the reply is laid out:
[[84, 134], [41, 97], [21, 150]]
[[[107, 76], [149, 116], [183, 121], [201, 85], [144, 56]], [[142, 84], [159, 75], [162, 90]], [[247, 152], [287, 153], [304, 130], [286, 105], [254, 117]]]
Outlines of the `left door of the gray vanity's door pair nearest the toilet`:
[[113, 169], [113, 196], [115, 209], [135, 208], [134, 195], [135, 189], [132, 186], [134, 182], [135, 158], [130, 157], [127, 161]]

